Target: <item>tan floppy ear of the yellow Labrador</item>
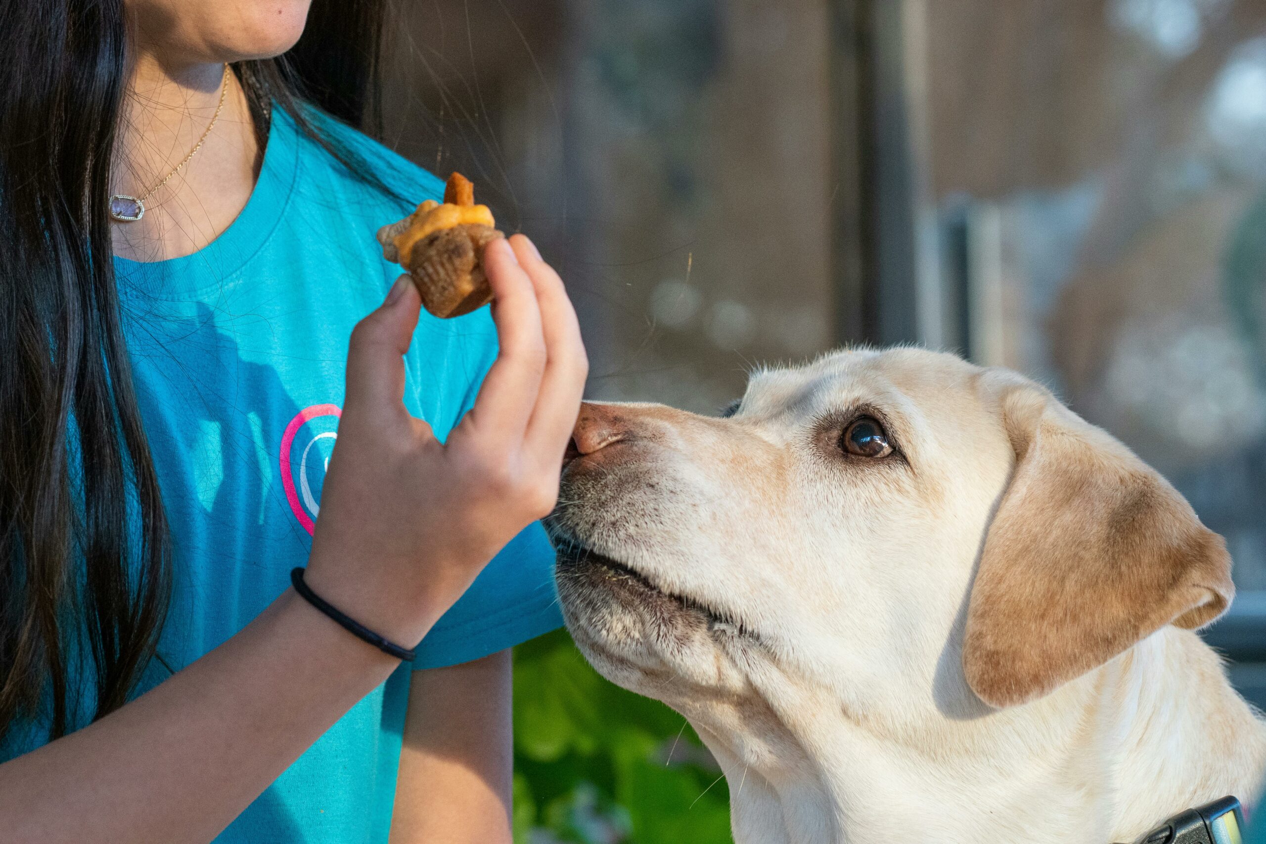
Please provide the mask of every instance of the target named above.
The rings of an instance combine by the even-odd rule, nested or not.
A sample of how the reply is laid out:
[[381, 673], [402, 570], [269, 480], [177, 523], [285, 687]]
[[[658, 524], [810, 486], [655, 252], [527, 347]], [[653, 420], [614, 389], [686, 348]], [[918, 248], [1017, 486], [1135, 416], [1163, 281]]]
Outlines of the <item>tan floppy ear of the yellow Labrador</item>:
[[1000, 385], [1015, 449], [985, 538], [962, 666], [991, 706], [1036, 700], [1234, 595], [1222, 537], [1165, 478], [1032, 383]]

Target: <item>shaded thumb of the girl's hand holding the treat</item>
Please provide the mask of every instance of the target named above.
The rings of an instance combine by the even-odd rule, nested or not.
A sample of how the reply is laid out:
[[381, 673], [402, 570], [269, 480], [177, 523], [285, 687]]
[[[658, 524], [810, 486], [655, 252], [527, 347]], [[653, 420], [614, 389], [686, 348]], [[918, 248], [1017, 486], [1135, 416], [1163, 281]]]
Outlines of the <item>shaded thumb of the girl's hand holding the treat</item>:
[[404, 353], [413, 340], [420, 309], [418, 289], [409, 276], [400, 276], [386, 301], [357, 323], [347, 348], [347, 409], [408, 415]]

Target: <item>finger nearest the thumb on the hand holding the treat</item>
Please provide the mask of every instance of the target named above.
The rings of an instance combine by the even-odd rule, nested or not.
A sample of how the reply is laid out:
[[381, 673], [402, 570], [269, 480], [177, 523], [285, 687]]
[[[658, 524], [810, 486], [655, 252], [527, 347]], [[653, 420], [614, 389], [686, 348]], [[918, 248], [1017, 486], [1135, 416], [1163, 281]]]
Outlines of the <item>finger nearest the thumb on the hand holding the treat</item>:
[[546, 368], [541, 306], [532, 280], [505, 240], [494, 240], [484, 249], [484, 272], [492, 287], [500, 351], [470, 418], [477, 429], [517, 447], [532, 418]]

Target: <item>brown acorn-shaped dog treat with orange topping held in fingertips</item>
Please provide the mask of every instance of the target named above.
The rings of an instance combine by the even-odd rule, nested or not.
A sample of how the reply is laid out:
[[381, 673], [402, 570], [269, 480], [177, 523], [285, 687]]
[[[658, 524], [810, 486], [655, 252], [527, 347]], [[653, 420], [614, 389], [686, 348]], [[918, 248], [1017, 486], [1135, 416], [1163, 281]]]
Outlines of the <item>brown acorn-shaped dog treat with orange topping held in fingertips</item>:
[[492, 300], [484, 275], [484, 247], [498, 238], [487, 205], [475, 204], [475, 186], [461, 173], [444, 185], [444, 201], [427, 200], [418, 210], [379, 229], [382, 256], [408, 271], [423, 306], [439, 316], [461, 316]]

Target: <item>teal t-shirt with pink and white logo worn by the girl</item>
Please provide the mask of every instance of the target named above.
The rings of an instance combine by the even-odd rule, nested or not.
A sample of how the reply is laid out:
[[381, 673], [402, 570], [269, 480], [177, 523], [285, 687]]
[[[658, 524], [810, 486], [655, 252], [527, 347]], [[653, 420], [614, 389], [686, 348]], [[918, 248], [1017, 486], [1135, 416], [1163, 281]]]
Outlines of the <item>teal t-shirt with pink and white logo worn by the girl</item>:
[[[327, 129], [409, 202], [442, 196], [434, 176], [346, 127]], [[175, 552], [162, 664], [146, 686], [241, 630], [306, 563], [348, 337], [400, 273], [375, 232], [411, 204], [354, 178], [276, 109], [256, 189], [219, 238], [172, 261], [116, 259]], [[452, 320], [423, 311], [405, 356], [409, 411], [446, 437], [496, 348], [487, 307]], [[439, 620], [411, 668], [468, 662], [561, 625], [552, 563], [532, 525]], [[385, 844], [409, 672], [401, 666], [347, 712], [216, 841]], [[15, 742], [6, 755], [29, 749]]]

